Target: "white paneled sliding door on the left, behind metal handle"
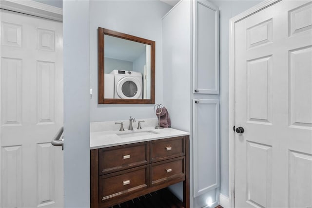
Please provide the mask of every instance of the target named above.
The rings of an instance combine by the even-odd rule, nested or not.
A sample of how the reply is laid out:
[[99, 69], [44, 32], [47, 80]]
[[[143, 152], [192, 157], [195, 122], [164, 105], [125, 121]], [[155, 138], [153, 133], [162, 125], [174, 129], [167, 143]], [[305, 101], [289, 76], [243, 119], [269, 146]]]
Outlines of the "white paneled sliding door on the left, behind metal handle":
[[1, 208], [61, 208], [62, 23], [0, 13]]

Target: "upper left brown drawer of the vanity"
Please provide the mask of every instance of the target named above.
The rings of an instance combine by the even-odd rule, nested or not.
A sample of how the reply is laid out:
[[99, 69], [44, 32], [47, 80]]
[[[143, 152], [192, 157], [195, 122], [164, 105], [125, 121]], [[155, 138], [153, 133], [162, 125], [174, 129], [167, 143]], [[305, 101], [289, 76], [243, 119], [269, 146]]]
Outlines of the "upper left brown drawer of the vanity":
[[99, 175], [146, 165], [149, 161], [147, 150], [147, 142], [100, 149]]

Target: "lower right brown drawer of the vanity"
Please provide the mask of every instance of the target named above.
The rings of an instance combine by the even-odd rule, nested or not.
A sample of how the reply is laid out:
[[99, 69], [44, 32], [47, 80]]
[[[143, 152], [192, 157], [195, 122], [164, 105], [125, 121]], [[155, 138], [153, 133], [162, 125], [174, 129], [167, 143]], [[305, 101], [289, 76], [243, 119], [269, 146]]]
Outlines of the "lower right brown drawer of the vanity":
[[152, 164], [152, 185], [181, 177], [184, 180], [185, 157], [161, 161]]

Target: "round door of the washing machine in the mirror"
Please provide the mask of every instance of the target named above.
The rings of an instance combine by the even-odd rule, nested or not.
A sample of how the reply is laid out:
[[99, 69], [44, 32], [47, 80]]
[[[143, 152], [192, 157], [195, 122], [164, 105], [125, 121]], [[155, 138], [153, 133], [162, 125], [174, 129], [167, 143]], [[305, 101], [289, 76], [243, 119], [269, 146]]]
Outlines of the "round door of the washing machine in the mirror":
[[126, 76], [118, 81], [116, 91], [121, 99], [138, 99], [142, 93], [141, 88], [135, 77]]

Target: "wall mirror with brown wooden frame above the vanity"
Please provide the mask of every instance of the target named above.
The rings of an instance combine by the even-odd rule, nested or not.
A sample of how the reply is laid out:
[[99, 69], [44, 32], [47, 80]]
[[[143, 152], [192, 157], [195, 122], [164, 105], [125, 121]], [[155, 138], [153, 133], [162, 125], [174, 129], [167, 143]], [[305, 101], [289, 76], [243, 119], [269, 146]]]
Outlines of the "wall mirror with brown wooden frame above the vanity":
[[155, 103], [155, 41], [98, 27], [98, 104]]

